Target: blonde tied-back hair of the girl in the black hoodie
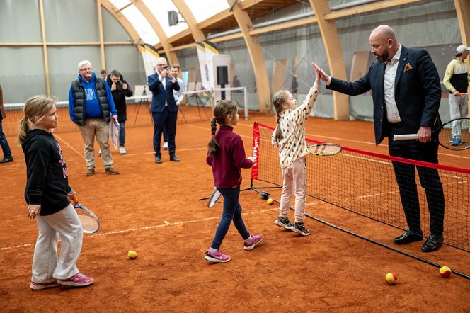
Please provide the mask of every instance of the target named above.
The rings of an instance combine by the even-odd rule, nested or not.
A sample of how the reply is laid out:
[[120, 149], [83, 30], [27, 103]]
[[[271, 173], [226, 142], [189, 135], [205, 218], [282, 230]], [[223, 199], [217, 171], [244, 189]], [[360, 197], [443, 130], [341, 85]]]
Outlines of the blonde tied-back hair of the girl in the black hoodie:
[[[40, 123], [44, 115], [55, 106], [57, 98], [48, 96], [34, 96], [25, 102], [23, 112], [25, 116], [20, 120], [18, 131], [18, 142], [21, 145], [25, 140], [28, 131], [31, 130], [35, 123]], [[35, 118], [38, 118], [35, 120]]]

